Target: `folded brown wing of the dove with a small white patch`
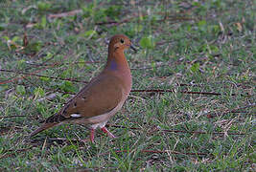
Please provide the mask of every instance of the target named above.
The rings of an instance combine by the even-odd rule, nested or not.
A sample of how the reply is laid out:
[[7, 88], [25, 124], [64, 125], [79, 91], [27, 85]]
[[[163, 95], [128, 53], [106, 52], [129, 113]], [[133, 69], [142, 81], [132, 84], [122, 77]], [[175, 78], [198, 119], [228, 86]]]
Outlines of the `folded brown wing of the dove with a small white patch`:
[[123, 97], [121, 80], [113, 75], [100, 76], [71, 98], [48, 122], [61, 122], [74, 118], [92, 118], [114, 109]]

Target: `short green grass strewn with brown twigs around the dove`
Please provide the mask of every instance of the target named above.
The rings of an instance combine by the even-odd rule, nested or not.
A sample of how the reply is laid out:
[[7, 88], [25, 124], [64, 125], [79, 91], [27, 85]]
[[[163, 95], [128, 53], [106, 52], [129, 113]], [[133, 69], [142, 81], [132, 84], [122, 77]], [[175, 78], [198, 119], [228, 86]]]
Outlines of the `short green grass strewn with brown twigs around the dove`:
[[[1, 2], [0, 170], [254, 171], [253, 3]], [[115, 33], [140, 47], [126, 53], [132, 89], [171, 92], [132, 92], [108, 122], [115, 140], [82, 143], [78, 125], [29, 139], [99, 74]]]

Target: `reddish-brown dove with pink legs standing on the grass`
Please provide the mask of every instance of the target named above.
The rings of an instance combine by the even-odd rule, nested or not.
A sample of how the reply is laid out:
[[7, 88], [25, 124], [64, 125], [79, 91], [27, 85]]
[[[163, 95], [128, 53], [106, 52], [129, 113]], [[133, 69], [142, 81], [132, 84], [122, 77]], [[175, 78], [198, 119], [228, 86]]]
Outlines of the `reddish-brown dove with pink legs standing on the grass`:
[[89, 126], [90, 140], [93, 143], [97, 128], [108, 137], [116, 138], [107, 130], [105, 124], [122, 108], [131, 90], [132, 77], [124, 53], [128, 48], [136, 52], [128, 36], [112, 36], [104, 70], [92, 78], [75, 97], [69, 99], [57, 114], [46, 118], [43, 124], [31, 133], [30, 138], [63, 123]]

